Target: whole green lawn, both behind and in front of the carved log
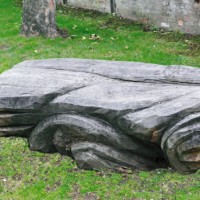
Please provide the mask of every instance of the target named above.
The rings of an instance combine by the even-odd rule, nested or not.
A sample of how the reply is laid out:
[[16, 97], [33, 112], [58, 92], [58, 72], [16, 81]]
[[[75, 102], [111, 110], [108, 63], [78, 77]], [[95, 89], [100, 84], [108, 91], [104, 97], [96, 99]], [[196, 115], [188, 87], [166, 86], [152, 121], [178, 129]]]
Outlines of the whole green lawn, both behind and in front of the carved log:
[[[21, 8], [15, 0], [0, 3], [0, 73], [28, 59], [92, 58], [200, 67], [200, 37], [144, 32], [142, 26], [112, 15], [58, 9], [57, 23], [70, 38], [24, 38], [19, 35]], [[153, 28], [152, 28], [153, 29]], [[98, 35], [92, 40], [91, 34]], [[31, 73], [31, 72], [30, 72]], [[25, 139], [0, 138], [0, 199], [177, 199], [198, 200], [200, 171], [79, 170], [69, 158], [30, 152]]]

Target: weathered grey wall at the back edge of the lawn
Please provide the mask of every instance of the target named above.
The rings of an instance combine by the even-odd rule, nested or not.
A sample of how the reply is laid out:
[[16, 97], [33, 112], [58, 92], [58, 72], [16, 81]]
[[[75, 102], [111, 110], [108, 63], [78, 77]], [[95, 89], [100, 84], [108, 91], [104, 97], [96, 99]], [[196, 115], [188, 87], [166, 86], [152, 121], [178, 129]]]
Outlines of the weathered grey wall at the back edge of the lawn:
[[168, 30], [200, 34], [200, 0], [67, 0], [75, 7], [118, 16]]

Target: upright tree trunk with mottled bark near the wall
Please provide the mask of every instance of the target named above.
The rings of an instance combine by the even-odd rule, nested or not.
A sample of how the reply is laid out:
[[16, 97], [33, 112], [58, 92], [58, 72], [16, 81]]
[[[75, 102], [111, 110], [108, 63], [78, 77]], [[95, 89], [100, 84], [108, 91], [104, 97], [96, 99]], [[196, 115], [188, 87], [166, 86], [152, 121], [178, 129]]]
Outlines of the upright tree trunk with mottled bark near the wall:
[[56, 37], [55, 0], [23, 0], [22, 35]]

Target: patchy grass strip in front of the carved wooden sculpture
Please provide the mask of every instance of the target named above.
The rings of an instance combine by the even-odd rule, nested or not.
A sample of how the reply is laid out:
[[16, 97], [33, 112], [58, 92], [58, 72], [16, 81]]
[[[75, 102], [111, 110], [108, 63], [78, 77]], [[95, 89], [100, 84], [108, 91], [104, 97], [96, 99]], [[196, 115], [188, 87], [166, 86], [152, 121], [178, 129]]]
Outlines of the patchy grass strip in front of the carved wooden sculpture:
[[1, 139], [0, 148], [0, 199], [199, 199], [199, 172], [84, 171], [59, 154], [30, 152], [24, 139]]

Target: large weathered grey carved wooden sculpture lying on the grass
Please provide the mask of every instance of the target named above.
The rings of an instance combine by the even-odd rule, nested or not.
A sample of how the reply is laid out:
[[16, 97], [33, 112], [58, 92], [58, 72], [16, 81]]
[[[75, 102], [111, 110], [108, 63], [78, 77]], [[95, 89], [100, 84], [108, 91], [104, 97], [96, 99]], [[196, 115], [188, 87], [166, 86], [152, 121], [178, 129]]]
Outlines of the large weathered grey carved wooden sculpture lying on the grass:
[[200, 168], [200, 70], [81, 59], [26, 61], [0, 75], [0, 136], [81, 168]]

